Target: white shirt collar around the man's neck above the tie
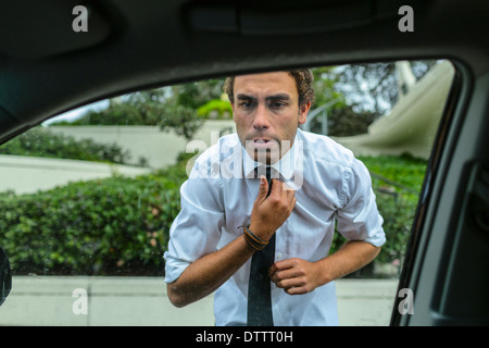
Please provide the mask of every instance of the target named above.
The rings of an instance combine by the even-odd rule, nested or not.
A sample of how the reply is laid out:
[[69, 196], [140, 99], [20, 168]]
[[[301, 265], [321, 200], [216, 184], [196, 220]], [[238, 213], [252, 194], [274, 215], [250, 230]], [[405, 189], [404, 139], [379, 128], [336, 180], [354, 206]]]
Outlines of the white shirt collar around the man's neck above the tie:
[[[298, 129], [299, 133], [300, 129]], [[280, 173], [280, 176], [284, 177], [286, 181], [290, 181], [296, 166], [297, 161], [299, 160], [298, 156], [298, 135], [296, 134], [296, 137], [293, 139], [292, 147], [281, 157], [280, 160], [272, 164], [272, 167], [275, 169], [278, 173]], [[247, 150], [241, 147], [243, 154], [243, 175], [247, 178], [253, 178], [254, 177], [254, 169], [258, 166], [262, 166], [263, 164], [260, 162], [254, 161], [247, 152]]]

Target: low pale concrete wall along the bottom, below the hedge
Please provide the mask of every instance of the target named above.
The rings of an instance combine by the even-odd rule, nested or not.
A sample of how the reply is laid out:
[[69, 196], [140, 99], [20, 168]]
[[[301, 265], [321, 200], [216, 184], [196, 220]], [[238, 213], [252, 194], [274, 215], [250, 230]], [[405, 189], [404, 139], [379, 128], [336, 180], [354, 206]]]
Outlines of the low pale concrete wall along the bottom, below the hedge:
[[[336, 283], [340, 325], [389, 325], [397, 279]], [[77, 288], [87, 290], [87, 314], [73, 312]], [[213, 297], [178, 309], [162, 277], [14, 276], [3, 325], [213, 326]]]

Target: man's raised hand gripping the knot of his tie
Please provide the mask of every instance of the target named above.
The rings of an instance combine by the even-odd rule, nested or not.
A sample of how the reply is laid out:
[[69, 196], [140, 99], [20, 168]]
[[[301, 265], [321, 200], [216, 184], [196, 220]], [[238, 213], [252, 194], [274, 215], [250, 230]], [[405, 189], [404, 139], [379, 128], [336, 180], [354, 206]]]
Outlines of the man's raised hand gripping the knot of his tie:
[[250, 229], [256, 236], [268, 240], [275, 231], [292, 213], [296, 206], [296, 192], [286, 188], [286, 184], [273, 179], [268, 197], [268, 183], [264, 176], [260, 179], [260, 189], [250, 216]]

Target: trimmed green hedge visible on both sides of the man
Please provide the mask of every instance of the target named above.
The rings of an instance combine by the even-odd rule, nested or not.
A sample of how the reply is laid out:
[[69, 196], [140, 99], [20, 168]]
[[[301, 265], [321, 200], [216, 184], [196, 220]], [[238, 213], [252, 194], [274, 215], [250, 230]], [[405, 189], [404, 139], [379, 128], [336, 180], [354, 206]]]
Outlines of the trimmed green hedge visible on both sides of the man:
[[[179, 211], [179, 186], [186, 179], [185, 159], [137, 178], [115, 176], [32, 195], [0, 194], [0, 241], [13, 273], [162, 274], [170, 226]], [[426, 166], [398, 158], [368, 158], [365, 163], [383, 163], [383, 175], [411, 181], [404, 184], [417, 190]], [[417, 178], [406, 177], [412, 175]], [[403, 257], [417, 199], [403, 188], [386, 189], [377, 178], [373, 186], [387, 234], [375, 262], [396, 262]], [[337, 235], [333, 251], [342, 243]]]

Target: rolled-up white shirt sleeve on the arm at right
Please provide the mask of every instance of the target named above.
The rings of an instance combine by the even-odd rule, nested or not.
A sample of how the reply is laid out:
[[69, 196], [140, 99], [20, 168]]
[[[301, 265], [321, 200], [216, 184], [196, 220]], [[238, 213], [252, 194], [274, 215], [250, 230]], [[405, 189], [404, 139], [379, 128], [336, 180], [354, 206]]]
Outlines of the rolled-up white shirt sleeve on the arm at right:
[[358, 160], [344, 174], [343, 206], [337, 211], [338, 232], [349, 240], [364, 240], [380, 247], [386, 243], [386, 234], [371, 175]]

